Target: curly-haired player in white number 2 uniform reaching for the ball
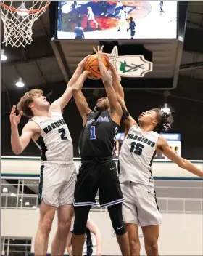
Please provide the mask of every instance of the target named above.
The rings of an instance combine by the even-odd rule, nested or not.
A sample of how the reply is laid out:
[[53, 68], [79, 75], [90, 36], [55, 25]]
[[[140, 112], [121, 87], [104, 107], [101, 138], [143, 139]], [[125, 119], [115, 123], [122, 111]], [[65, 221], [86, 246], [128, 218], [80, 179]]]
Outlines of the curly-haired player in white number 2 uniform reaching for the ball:
[[[88, 57], [86, 57], [88, 58]], [[63, 255], [67, 233], [73, 215], [72, 197], [75, 187], [76, 171], [73, 163], [73, 147], [70, 132], [62, 116], [62, 109], [72, 97], [75, 84], [86, 59], [78, 65], [72, 79], [67, 84], [62, 97], [51, 105], [40, 89], [26, 92], [10, 114], [11, 144], [15, 154], [22, 153], [30, 140], [41, 148], [41, 177], [38, 188], [40, 221], [35, 240], [35, 255], [46, 255], [49, 232], [58, 207], [58, 228], [52, 243], [51, 254]], [[19, 135], [18, 124], [22, 113], [30, 118]], [[63, 177], [63, 178], [62, 178]]]

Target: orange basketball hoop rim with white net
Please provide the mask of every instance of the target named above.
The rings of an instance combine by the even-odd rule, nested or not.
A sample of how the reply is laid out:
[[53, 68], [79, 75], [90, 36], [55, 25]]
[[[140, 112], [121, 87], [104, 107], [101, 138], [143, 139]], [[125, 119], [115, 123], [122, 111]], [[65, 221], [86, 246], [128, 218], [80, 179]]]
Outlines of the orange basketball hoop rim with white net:
[[50, 3], [51, 1], [1, 1], [3, 43], [12, 47], [25, 47], [26, 44], [31, 44], [33, 23], [46, 11]]

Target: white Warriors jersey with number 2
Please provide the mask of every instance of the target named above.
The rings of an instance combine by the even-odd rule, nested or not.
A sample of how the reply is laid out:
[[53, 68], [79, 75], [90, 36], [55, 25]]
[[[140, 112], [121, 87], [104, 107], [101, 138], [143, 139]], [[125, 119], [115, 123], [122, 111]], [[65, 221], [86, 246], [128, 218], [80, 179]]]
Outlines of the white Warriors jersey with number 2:
[[41, 128], [36, 145], [41, 149], [41, 160], [53, 164], [73, 164], [73, 145], [69, 129], [60, 111], [51, 111], [51, 117], [34, 116]]

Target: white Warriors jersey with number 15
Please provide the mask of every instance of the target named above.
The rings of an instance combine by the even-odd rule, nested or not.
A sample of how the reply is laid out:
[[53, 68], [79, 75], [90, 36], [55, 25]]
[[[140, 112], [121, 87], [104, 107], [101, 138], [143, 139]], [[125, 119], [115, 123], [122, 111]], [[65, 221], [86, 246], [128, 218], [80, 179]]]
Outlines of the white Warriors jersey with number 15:
[[151, 165], [158, 138], [157, 132], [143, 132], [138, 125], [130, 128], [119, 156], [120, 183], [132, 181], [154, 186]]

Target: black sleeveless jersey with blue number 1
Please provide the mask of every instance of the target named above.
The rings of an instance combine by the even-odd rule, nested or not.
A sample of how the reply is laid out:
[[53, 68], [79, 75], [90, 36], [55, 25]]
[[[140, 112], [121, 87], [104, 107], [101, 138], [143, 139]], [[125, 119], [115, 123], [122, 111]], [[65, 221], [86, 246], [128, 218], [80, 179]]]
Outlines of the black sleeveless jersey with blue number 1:
[[91, 112], [80, 134], [79, 150], [82, 159], [112, 156], [119, 125], [112, 121], [109, 111]]

